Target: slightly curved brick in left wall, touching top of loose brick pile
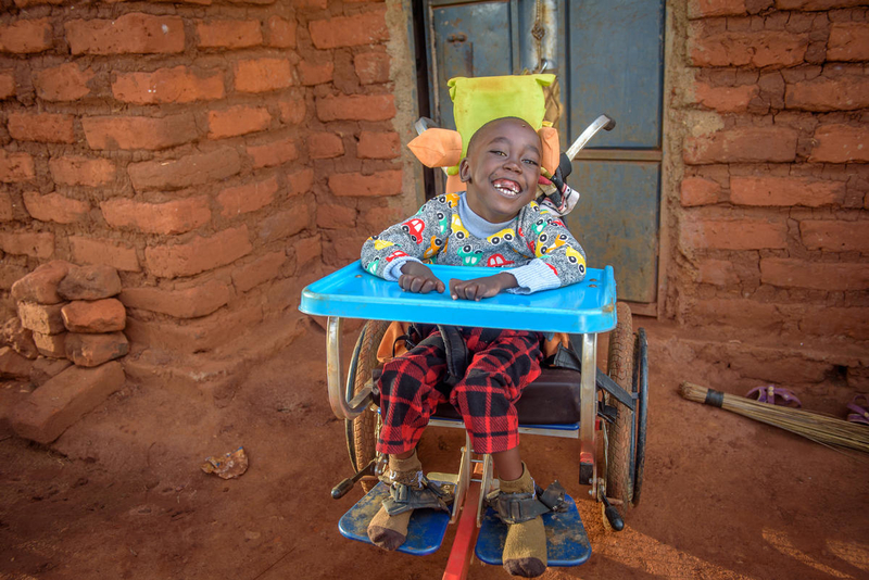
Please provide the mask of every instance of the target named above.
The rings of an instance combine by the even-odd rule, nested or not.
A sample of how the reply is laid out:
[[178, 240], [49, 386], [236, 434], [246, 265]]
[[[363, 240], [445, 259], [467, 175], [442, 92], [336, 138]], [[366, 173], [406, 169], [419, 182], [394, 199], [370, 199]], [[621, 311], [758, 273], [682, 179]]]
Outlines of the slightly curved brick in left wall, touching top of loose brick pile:
[[225, 306], [232, 289], [219, 280], [209, 280], [179, 290], [163, 288], [125, 288], [117, 297], [128, 308], [168, 314], [176, 318], [199, 318]]

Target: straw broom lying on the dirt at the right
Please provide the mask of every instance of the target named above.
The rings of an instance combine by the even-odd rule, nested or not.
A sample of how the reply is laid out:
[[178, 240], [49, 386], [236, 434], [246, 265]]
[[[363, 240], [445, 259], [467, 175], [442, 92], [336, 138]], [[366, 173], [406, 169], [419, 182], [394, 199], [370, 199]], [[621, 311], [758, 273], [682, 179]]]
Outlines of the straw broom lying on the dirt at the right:
[[732, 411], [744, 417], [805, 437], [822, 445], [869, 453], [869, 427], [865, 425], [848, 423], [798, 408], [760, 403], [688, 381], [681, 384], [679, 392], [689, 401]]

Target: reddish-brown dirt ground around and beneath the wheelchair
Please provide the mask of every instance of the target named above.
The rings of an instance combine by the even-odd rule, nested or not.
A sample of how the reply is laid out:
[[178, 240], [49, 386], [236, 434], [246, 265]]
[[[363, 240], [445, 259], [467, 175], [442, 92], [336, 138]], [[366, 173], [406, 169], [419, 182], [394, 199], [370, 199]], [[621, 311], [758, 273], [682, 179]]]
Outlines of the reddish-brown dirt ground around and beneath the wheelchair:
[[[589, 563], [543, 578], [869, 578], [867, 457], [682, 400], [682, 380], [739, 394], [756, 381], [695, 360], [671, 326], [638, 326], [650, 336], [648, 445], [625, 531], [605, 530], [577, 483], [575, 441], [522, 439], [536, 479], [557, 478], [577, 499], [592, 545]], [[455, 527], [421, 558], [339, 534], [361, 491], [329, 496], [351, 471], [324, 361], [312, 326], [225, 406], [130, 383], [52, 449], [2, 439], [0, 579], [440, 578]], [[853, 394], [836, 382], [791, 387], [806, 408], [839, 416]], [[427, 469], [455, 470], [461, 438], [430, 429]], [[239, 445], [250, 457], [239, 479], [200, 470]], [[506, 577], [479, 562], [469, 573]]]

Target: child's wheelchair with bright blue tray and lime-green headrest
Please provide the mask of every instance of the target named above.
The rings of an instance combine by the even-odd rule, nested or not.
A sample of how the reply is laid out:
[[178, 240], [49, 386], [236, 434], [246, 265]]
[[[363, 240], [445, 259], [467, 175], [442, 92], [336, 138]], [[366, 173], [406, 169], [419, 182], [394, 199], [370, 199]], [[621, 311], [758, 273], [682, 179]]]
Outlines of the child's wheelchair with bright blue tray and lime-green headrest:
[[[464, 121], [467, 125], [468, 115], [476, 115], [470, 122], [473, 134], [488, 119], [500, 116], [528, 119], [528, 111], [533, 111], [537, 116], [528, 121], [533, 126], [539, 117], [537, 126], [545, 126], [543, 87], [552, 83], [551, 77], [553, 75], [521, 75], [451, 80], [456, 124]], [[505, 94], [518, 97], [511, 101]], [[516, 114], [517, 111], [520, 113]], [[427, 121], [417, 124], [420, 137], [428, 134], [428, 140], [421, 146], [412, 141], [411, 149], [429, 166], [449, 167], [456, 164], [462, 141], [466, 141], [469, 135], [431, 129], [430, 125]], [[549, 189], [550, 204], [556, 211], [566, 213], [576, 203], [576, 199], [567, 199], [571, 194], [569, 188], [561, 187], [569, 173], [570, 161], [595, 133], [612, 129], [613, 126], [614, 122], [602, 115], [566, 153], [556, 149], [553, 161], [553, 152], [550, 151], [550, 160], [543, 164], [546, 168], [544, 176], [559, 186]], [[432, 134], [432, 130], [436, 133]], [[431, 135], [437, 138], [431, 139]], [[554, 139], [552, 135], [549, 134], [550, 143], [557, 143], [557, 133]], [[449, 175], [450, 169], [446, 173]], [[456, 187], [457, 184], [451, 182], [448, 177], [448, 191]], [[477, 267], [430, 267], [444, 281], [489, 274]], [[647, 415], [647, 346], [645, 331], [633, 331], [628, 305], [616, 301], [616, 282], [610, 266], [587, 268], [584, 280], [572, 286], [529, 295], [502, 293], [480, 302], [468, 302], [453, 301], [449, 293], [404, 292], [396, 283], [364, 272], [356, 262], [305, 288], [300, 310], [328, 317], [329, 403], [335, 415], [345, 420], [348, 450], [355, 470], [355, 475], [332, 489], [332, 496], [342, 497], [356, 482], [366, 492], [341, 518], [339, 529], [343, 535], [368, 542], [367, 525], [388, 495], [388, 488], [377, 479], [387, 467], [387, 457], [378, 456], [375, 450], [380, 420], [375, 384], [381, 366], [381, 357], [378, 356], [381, 342], [386, 340], [391, 346], [398, 333], [394, 320], [513, 328], [569, 337], [555, 349], [542, 375], [524, 391], [517, 403], [519, 432], [577, 439], [579, 483], [587, 486], [590, 497], [601, 503], [608, 526], [616, 531], [624, 528], [622, 516], [629, 507], [639, 503], [642, 490]], [[342, 379], [340, 357], [343, 318], [367, 320], [353, 349], [345, 379]], [[604, 373], [597, 368], [596, 361], [597, 338], [605, 332], [609, 333], [609, 340]], [[429, 427], [464, 429], [464, 424], [448, 404], [438, 408]], [[465, 446], [461, 450], [456, 471], [429, 472], [426, 477], [451, 494], [451, 512], [415, 510], [407, 541], [399, 551], [416, 555], [431, 554], [441, 546], [448, 527], [457, 522], [444, 578], [465, 577], [475, 538], [475, 553], [480, 560], [502, 564], [506, 526], [487, 502], [499, 486], [493, 478], [491, 456], [475, 454], [470, 439], [465, 434]], [[591, 555], [576, 504], [570, 496], [565, 500], [566, 509], [563, 507], [543, 516], [549, 566], [577, 566]]]

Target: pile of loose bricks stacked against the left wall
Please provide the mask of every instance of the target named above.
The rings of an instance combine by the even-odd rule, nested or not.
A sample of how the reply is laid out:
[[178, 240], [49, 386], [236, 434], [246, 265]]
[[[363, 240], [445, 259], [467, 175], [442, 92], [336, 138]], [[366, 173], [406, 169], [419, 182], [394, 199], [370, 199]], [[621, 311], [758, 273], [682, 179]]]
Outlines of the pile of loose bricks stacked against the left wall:
[[124, 384], [121, 279], [111, 266], [53, 261], [12, 286], [18, 316], [3, 326], [0, 374], [40, 384], [11, 413], [22, 437], [48, 443]]

